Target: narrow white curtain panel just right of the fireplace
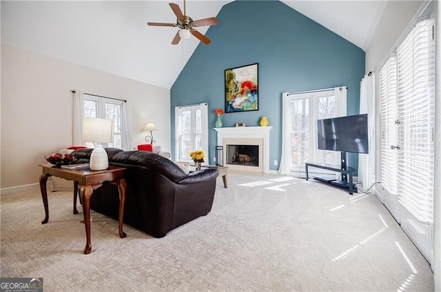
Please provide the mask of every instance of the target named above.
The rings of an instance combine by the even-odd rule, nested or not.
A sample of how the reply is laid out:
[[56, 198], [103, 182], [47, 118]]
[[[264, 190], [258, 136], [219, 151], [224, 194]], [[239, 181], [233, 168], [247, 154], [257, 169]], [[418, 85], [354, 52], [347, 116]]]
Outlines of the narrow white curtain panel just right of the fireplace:
[[291, 111], [289, 110], [289, 96], [287, 92], [282, 93], [282, 157], [280, 157], [280, 166], [278, 172], [280, 175], [289, 175], [291, 171]]

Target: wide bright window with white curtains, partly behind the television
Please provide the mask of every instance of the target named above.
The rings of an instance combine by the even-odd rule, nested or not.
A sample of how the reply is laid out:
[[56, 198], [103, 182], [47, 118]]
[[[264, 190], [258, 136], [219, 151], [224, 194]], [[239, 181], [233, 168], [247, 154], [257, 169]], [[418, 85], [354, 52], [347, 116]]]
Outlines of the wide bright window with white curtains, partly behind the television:
[[339, 164], [340, 155], [337, 152], [318, 150], [317, 120], [345, 115], [346, 89], [344, 91], [341, 98], [337, 98], [333, 89], [284, 93], [283, 164], [286, 165], [283, 167], [287, 172], [305, 172], [305, 162], [308, 161]]

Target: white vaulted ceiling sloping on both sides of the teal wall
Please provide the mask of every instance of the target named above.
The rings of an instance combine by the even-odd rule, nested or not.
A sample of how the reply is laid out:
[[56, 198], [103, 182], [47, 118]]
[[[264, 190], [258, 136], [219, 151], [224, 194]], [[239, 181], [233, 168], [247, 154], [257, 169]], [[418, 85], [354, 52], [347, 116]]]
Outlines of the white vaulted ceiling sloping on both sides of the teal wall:
[[[171, 45], [176, 22], [169, 2], [1, 1], [1, 41], [119, 76], [172, 87], [198, 41]], [[226, 0], [187, 0], [192, 19], [216, 16]], [[329, 30], [367, 49], [386, 1], [283, 1]], [[208, 27], [199, 27], [205, 34]]]

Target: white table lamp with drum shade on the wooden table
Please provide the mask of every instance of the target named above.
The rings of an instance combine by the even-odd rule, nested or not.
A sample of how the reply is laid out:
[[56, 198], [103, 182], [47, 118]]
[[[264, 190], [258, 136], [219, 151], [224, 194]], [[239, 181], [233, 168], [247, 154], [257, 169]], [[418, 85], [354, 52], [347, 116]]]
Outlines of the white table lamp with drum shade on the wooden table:
[[97, 143], [90, 155], [90, 170], [105, 170], [109, 167], [109, 157], [100, 143], [112, 143], [113, 128], [112, 120], [84, 118], [83, 141]]

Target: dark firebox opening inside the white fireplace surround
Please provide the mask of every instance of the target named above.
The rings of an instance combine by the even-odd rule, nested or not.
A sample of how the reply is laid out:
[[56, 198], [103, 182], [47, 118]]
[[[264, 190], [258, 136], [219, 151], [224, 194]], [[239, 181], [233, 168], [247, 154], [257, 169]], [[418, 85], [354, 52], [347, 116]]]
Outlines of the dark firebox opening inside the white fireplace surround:
[[227, 145], [227, 164], [259, 166], [259, 146]]

